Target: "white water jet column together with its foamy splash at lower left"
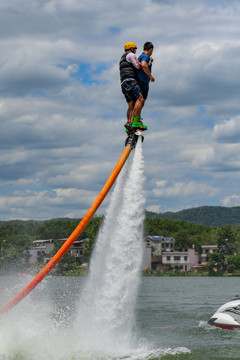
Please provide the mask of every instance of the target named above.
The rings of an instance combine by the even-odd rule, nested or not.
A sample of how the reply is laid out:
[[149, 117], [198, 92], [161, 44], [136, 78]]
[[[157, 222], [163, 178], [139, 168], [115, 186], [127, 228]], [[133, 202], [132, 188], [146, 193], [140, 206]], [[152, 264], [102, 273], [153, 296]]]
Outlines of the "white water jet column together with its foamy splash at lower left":
[[[135, 307], [143, 250], [143, 165], [139, 142], [132, 162], [125, 165], [111, 196], [79, 302], [76, 323], [68, 321], [67, 310], [75, 313], [75, 307], [71, 309], [69, 301], [63, 301], [58, 312], [58, 302], [54, 302], [53, 308], [47, 292], [51, 284], [56, 284], [56, 279], [48, 284], [50, 278], [46, 278], [35, 289], [35, 295], [3, 314], [0, 360], [147, 360], [189, 353], [186, 348], [153, 349], [137, 336], [135, 342]], [[59, 280], [59, 284], [63, 281]], [[69, 279], [65, 281], [68, 283]], [[63, 289], [62, 298], [68, 298], [67, 287], [63, 286]], [[71, 286], [69, 296], [72, 290]], [[53, 321], [53, 314], [57, 315], [58, 321]]]

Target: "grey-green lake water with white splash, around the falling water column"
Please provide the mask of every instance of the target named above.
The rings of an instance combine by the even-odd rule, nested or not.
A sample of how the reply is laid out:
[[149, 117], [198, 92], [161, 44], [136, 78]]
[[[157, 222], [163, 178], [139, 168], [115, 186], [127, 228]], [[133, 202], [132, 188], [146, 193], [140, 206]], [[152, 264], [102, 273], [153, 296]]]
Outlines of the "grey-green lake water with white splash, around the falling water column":
[[[31, 279], [1, 276], [0, 306]], [[91, 333], [81, 334], [81, 319], [75, 321], [85, 281], [49, 276], [0, 315], [0, 359], [240, 359], [240, 332], [207, 324], [220, 305], [240, 293], [239, 278], [143, 277], [129, 345], [122, 343], [122, 333], [101, 350], [91, 343]]]

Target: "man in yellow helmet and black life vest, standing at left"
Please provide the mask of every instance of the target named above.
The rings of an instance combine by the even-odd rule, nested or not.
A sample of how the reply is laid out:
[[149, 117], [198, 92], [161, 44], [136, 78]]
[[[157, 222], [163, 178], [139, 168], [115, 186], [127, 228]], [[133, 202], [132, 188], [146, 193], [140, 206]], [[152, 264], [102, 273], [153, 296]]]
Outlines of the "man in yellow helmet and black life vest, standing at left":
[[124, 126], [127, 133], [137, 128], [147, 130], [147, 126], [141, 121], [141, 110], [144, 101], [138, 84], [137, 72], [141, 66], [135, 55], [137, 45], [133, 42], [127, 42], [124, 45], [124, 50], [125, 52], [119, 63], [121, 89], [128, 103], [127, 122]]

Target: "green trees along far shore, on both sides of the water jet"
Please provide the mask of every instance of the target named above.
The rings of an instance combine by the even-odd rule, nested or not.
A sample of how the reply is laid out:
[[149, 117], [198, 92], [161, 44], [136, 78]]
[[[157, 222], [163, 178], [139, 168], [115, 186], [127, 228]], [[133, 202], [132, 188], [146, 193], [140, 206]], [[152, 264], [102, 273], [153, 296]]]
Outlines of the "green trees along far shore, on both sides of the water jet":
[[[103, 222], [103, 216], [96, 216], [90, 221], [85, 230], [80, 234], [79, 240], [89, 239], [82, 261], [89, 260], [91, 251], [96, 239], [100, 225]], [[0, 223], [0, 265], [16, 265], [18, 261], [29, 259], [29, 250], [33, 246], [34, 240], [43, 239], [62, 239], [68, 238], [81, 219], [54, 219], [47, 221], [9, 221]], [[201, 245], [215, 245], [221, 247], [222, 257], [220, 267], [224, 270], [226, 257], [239, 252], [240, 249], [240, 225], [223, 225], [221, 227], [211, 227], [206, 225], [192, 224], [184, 220], [169, 220], [158, 217], [147, 217], [144, 222], [144, 236], [162, 235], [174, 237], [175, 250], [182, 250], [194, 246], [196, 251], [201, 251]], [[224, 242], [227, 241], [228, 247]], [[59, 242], [56, 242], [54, 255], [59, 248]], [[212, 264], [216, 259], [212, 260]], [[65, 255], [66, 261], [74, 261], [68, 254]], [[63, 262], [64, 262], [63, 261]], [[216, 263], [216, 261], [215, 261]], [[220, 269], [220, 268], [219, 268]]]

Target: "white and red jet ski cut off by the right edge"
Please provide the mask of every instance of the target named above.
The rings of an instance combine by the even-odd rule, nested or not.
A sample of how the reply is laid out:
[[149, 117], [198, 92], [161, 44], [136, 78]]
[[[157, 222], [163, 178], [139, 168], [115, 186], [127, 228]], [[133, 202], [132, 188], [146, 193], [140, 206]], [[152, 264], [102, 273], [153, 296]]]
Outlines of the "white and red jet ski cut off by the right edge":
[[226, 330], [240, 329], [240, 296], [222, 305], [210, 318], [208, 324]]

